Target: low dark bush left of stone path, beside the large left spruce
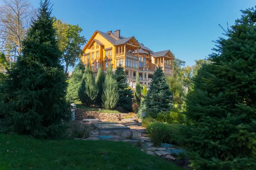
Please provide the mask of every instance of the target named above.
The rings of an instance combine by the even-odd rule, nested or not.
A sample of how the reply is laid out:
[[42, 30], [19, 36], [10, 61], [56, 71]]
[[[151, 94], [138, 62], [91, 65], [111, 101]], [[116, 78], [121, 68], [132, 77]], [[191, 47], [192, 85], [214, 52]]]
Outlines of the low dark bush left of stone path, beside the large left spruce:
[[87, 125], [82, 122], [72, 122], [72, 133], [74, 138], [88, 138], [90, 132]]

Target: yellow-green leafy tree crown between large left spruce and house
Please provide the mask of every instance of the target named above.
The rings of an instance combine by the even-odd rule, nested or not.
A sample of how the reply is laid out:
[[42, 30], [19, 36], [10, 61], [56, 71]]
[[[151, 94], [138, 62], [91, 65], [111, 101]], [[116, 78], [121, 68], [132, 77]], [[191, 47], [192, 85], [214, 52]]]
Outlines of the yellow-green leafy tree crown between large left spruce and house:
[[65, 62], [67, 74], [68, 67], [74, 67], [76, 61], [80, 59], [81, 45], [86, 43], [86, 39], [80, 36], [83, 30], [78, 25], [63, 23], [55, 19], [53, 26], [56, 29], [56, 38], [62, 54], [61, 61]]

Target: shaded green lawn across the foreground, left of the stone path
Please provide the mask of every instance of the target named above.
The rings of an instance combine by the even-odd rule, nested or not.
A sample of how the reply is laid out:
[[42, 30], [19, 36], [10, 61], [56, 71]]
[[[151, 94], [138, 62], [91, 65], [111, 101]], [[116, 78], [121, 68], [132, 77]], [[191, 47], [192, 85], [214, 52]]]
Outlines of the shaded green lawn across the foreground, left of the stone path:
[[182, 170], [125, 142], [0, 134], [0, 170]]

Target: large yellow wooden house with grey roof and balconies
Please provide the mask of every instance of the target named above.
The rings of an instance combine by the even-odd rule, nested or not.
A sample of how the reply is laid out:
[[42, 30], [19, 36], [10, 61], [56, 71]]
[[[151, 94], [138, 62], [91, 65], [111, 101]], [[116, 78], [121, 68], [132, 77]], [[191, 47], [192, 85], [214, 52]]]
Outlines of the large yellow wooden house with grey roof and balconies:
[[95, 31], [83, 48], [81, 60], [98, 71], [99, 65], [107, 70], [112, 65], [113, 70], [121, 65], [125, 69], [127, 82], [135, 87], [136, 72], [140, 75], [140, 83], [149, 85], [157, 65], [163, 67], [166, 75], [173, 76], [172, 61], [174, 56], [170, 50], [154, 52], [138, 42], [135, 37], [123, 37], [120, 30], [106, 33]]

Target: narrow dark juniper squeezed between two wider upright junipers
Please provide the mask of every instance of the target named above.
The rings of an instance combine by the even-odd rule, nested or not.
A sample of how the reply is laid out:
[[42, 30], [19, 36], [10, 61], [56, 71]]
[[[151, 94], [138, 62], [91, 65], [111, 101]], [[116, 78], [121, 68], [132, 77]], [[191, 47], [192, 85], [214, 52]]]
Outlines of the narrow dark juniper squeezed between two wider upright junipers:
[[104, 70], [102, 68], [102, 66], [99, 66], [98, 72], [97, 72], [97, 76], [96, 76], [96, 85], [97, 88], [99, 90], [97, 99], [96, 99], [96, 103], [98, 105], [102, 104], [102, 94], [103, 94], [103, 85], [105, 82], [105, 74], [104, 74]]

